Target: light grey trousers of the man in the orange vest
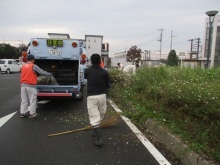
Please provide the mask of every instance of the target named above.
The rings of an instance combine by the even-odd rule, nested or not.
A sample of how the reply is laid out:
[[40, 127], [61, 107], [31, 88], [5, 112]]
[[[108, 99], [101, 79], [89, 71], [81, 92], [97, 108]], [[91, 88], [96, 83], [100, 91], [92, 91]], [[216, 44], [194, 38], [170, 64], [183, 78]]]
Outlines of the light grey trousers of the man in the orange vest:
[[21, 87], [21, 107], [22, 114], [30, 112], [31, 115], [36, 113], [37, 108], [37, 90], [35, 87]]

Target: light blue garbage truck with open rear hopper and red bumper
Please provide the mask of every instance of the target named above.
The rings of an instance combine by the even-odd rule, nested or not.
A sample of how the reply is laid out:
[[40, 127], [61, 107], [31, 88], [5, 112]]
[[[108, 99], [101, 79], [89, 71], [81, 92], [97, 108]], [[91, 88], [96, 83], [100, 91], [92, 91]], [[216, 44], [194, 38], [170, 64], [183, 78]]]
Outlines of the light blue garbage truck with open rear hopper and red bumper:
[[84, 71], [87, 57], [83, 40], [68, 34], [48, 33], [49, 38], [32, 38], [27, 53], [35, 56], [35, 64], [53, 74], [58, 85], [37, 85], [38, 99], [83, 99]]

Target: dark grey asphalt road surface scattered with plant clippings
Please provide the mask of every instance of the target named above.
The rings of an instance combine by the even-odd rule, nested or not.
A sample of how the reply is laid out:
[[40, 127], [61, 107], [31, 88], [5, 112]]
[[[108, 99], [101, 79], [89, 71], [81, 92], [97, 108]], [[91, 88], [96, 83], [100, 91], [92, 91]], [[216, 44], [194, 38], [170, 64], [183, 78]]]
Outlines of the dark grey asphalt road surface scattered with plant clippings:
[[[0, 127], [1, 165], [159, 164], [122, 120], [102, 130], [103, 147], [94, 145], [91, 131], [48, 137], [89, 125], [86, 99], [38, 104], [37, 118], [20, 118], [19, 77], [19, 73], [0, 75], [0, 119], [17, 112]], [[115, 113], [109, 104], [107, 110], [107, 117]]]

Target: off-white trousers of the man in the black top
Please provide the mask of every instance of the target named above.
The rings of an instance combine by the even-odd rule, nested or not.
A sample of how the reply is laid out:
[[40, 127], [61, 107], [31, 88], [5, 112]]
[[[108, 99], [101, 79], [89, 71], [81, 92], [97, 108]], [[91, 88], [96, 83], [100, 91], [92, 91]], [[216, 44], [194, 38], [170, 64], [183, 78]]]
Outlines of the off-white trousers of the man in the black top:
[[90, 124], [94, 127], [99, 127], [99, 124], [106, 113], [106, 94], [88, 96], [87, 108]]

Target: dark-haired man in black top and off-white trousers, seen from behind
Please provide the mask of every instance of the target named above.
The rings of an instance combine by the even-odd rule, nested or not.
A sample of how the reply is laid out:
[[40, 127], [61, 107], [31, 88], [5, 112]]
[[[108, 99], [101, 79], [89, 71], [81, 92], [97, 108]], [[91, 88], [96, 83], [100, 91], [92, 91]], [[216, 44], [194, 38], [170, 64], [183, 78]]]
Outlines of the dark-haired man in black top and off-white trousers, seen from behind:
[[110, 78], [108, 71], [100, 66], [101, 56], [92, 54], [92, 66], [85, 70], [87, 79], [87, 109], [90, 124], [93, 126], [93, 137], [96, 137], [95, 144], [101, 146], [103, 139], [101, 136], [100, 123], [106, 112], [106, 93], [110, 88]]

